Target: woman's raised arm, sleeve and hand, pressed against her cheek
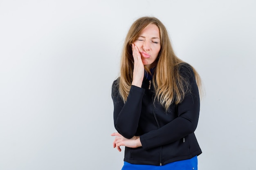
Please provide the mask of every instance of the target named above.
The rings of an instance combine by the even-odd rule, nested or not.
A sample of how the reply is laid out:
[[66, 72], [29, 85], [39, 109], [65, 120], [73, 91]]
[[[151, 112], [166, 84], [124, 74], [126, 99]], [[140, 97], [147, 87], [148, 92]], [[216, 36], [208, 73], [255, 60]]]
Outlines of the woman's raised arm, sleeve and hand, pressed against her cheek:
[[118, 80], [112, 85], [114, 125], [117, 132], [128, 139], [132, 138], [137, 131], [141, 113], [142, 97], [145, 91], [141, 88], [144, 77], [144, 65], [141, 60], [139, 49], [135, 44], [132, 44], [132, 56], [134, 59], [132, 86], [125, 103], [119, 95]]

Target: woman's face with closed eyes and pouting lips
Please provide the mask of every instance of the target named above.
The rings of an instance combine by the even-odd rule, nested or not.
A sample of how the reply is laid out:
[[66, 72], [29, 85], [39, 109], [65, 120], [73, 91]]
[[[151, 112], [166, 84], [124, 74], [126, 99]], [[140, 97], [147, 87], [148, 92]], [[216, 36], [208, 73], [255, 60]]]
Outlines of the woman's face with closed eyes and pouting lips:
[[141, 59], [147, 68], [156, 66], [157, 56], [161, 49], [159, 29], [155, 24], [146, 26], [135, 40]]

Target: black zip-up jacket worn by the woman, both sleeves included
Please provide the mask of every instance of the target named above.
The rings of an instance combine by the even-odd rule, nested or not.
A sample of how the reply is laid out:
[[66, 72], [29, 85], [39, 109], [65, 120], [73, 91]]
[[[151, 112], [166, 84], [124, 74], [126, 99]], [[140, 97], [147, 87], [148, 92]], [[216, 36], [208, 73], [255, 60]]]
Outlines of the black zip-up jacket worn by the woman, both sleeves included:
[[115, 128], [128, 139], [140, 136], [142, 144], [139, 148], [126, 147], [124, 161], [165, 165], [202, 153], [194, 134], [200, 110], [195, 75], [189, 64], [181, 64], [179, 72], [189, 79], [190, 92], [180, 104], [172, 104], [167, 113], [157, 99], [154, 103], [155, 89], [148, 79], [144, 78], [141, 88], [131, 86], [126, 103], [119, 95], [118, 79], [113, 82]]

